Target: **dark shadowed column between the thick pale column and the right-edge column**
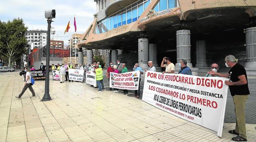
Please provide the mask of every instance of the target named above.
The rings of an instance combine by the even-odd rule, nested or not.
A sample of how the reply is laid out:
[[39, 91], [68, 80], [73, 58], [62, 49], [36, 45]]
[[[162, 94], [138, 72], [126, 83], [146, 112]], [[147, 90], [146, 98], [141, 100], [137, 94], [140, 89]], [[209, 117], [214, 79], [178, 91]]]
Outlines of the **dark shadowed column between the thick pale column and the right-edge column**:
[[197, 64], [196, 67], [207, 67], [206, 64], [206, 41], [197, 40]]

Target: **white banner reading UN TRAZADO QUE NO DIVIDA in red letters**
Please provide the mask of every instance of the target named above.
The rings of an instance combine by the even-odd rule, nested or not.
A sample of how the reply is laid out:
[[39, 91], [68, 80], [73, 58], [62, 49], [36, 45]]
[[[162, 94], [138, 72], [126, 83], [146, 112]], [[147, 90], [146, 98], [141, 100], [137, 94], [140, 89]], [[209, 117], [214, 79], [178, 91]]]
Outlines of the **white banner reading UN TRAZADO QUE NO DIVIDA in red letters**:
[[138, 90], [139, 76], [139, 71], [130, 71], [120, 74], [110, 73], [110, 88]]

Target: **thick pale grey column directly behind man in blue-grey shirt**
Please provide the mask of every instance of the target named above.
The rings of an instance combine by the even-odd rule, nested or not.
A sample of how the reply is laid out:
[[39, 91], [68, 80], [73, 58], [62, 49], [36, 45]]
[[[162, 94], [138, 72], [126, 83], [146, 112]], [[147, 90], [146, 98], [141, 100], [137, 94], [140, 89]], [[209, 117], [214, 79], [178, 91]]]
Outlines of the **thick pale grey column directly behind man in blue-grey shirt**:
[[179, 30], [176, 31], [176, 46], [177, 46], [177, 63], [175, 65], [175, 72], [181, 69], [178, 65], [181, 59], [187, 60], [187, 67], [192, 71], [193, 75], [197, 75], [198, 68], [193, 68], [190, 59], [190, 30]]

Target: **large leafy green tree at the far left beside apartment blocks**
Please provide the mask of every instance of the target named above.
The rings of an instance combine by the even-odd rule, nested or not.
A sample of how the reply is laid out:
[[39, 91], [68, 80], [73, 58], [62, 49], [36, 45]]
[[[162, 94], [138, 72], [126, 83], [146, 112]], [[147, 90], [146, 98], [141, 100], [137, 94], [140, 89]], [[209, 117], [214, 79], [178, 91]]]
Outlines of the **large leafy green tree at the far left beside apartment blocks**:
[[27, 27], [20, 18], [8, 22], [0, 21], [0, 53], [8, 58], [9, 67], [13, 60], [27, 52], [26, 31]]

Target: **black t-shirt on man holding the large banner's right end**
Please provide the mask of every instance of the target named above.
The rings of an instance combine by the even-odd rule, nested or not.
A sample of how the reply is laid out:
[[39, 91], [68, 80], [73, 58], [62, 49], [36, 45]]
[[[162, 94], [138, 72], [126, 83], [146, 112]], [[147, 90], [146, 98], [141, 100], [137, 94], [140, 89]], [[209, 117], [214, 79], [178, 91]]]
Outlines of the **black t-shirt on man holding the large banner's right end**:
[[[245, 75], [245, 78], [247, 80], [247, 74], [245, 71], [245, 68], [239, 64], [236, 63], [229, 71], [229, 80], [232, 82], [237, 82], [240, 79], [238, 78], [238, 76], [240, 75]], [[249, 88], [248, 88], [248, 80], [247, 80], [247, 84], [244, 85], [230, 85], [229, 86], [229, 90], [232, 96], [234, 95], [249, 95]]]

